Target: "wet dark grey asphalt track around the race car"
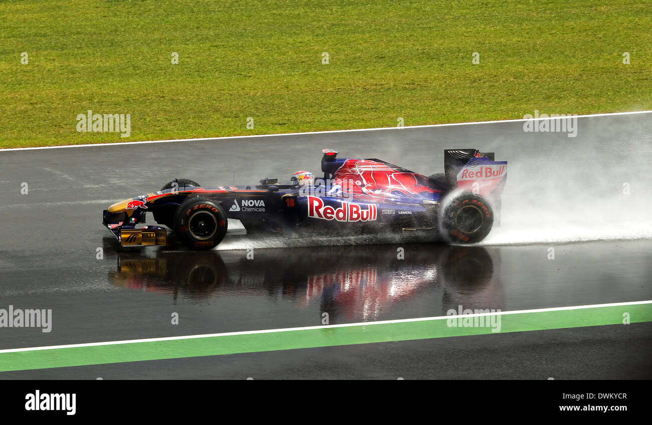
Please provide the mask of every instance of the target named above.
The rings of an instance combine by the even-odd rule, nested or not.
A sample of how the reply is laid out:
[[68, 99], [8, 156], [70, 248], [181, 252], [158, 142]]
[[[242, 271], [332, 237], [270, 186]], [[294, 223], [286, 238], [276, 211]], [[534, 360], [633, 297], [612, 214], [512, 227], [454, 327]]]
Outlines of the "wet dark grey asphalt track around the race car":
[[[220, 251], [192, 253], [178, 247], [121, 251], [101, 225], [108, 204], [155, 191], [172, 177], [230, 184], [235, 169], [238, 184], [284, 178], [297, 169], [318, 171], [321, 148], [424, 174], [441, 169], [444, 148], [495, 150], [497, 159], [521, 164], [509, 171], [510, 197], [510, 185], [527, 180], [515, 170], [531, 158], [564, 163], [564, 149], [592, 146], [617, 163], [631, 155], [622, 152], [630, 143], [645, 182], [651, 130], [650, 116], [638, 115], [580, 118], [572, 140], [524, 135], [516, 122], [0, 152], [0, 218], [7, 223], [0, 228], [0, 308], [53, 310], [52, 332], [0, 328], [0, 349], [319, 325], [322, 312], [334, 324], [441, 316], [458, 305], [520, 310], [651, 299], [647, 239], [484, 247], [366, 240], [373, 244], [264, 248], [278, 240], [234, 234]], [[584, 171], [599, 172], [600, 158], [594, 162]], [[27, 195], [20, 193], [22, 182]], [[247, 260], [244, 249], [251, 246], [254, 259]], [[546, 258], [550, 246], [555, 260]], [[398, 247], [404, 260], [396, 259]], [[170, 324], [172, 312], [179, 313], [179, 325]], [[3, 372], [0, 379], [649, 379], [651, 348], [652, 325], [635, 323]]]

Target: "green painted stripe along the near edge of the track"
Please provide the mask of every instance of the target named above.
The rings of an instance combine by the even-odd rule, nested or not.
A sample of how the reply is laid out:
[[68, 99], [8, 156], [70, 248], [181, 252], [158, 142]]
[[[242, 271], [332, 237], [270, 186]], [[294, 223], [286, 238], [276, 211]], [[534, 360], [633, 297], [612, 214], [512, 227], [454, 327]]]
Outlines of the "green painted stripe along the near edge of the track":
[[[625, 316], [629, 317], [630, 323], [652, 322], [652, 304], [535, 310], [499, 314], [497, 317], [500, 318], [499, 333], [508, 333], [622, 324]], [[482, 319], [489, 322], [492, 317], [484, 316]], [[44, 347], [31, 351], [0, 350], [0, 372], [497, 333], [492, 332], [492, 327], [488, 325], [452, 327], [449, 325], [452, 320], [458, 322], [457, 319], [444, 316], [406, 322], [324, 326], [317, 329], [279, 329], [261, 333], [198, 335], [186, 339], [125, 341], [82, 347]], [[474, 318], [467, 317], [466, 320]]]

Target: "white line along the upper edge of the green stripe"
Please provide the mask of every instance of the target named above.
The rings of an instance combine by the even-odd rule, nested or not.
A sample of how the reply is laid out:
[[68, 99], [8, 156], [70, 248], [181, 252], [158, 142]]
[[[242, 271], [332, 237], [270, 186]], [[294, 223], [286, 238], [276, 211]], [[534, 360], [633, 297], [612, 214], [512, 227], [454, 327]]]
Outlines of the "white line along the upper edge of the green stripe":
[[332, 329], [332, 328], [336, 328], [336, 327], [373, 326], [373, 325], [383, 325], [383, 324], [387, 324], [387, 323], [423, 322], [423, 321], [426, 321], [426, 320], [448, 320], [448, 319], [454, 319], [454, 318], [497, 316], [497, 315], [504, 315], [504, 314], [541, 313], [541, 312], [548, 312], [548, 311], [580, 310], [580, 309], [583, 309], [583, 308], [619, 307], [619, 306], [641, 305], [641, 304], [652, 304], [652, 300], [629, 301], [629, 302], [626, 302], [626, 303], [573, 305], [573, 306], [570, 306], [570, 307], [535, 308], [533, 310], [512, 310], [512, 311], [476, 313], [476, 314], [462, 314], [462, 315], [456, 314], [456, 315], [451, 315], [451, 316], [436, 316], [436, 317], [424, 317], [424, 318], [413, 318], [413, 319], [378, 320], [376, 322], [342, 323], [341, 325], [288, 327], [288, 328], [283, 328], [283, 329], [263, 329], [263, 330], [260, 330], [260, 331], [209, 333], [209, 334], [203, 334], [203, 335], [184, 335], [184, 336], [164, 336], [162, 338], [145, 338], [145, 339], [123, 340], [123, 341], [106, 341], [106, 342], [87, 342], [85, 344], [67, 344], [67, 345], [60, 345], [60, 346], [9, 348], [7, 350], [0, 350], [0, 354], [2, 354], [2, 353], [18, 353], [20, 351], [40, 351], [40, 350], [57, 350], [59, 348], [97, 347], [97, 346], [110, 346], [110, 345], [118, 345], [118, 344], [136, 344], [138, 342], [158, 342], [158, 341], [173, 341], [173, 340], [196, 339], [196, 338], [212, 338], [213, 336], [253, 335], [253, 334], [258, 334], [258, 333], [308, 331], [308, 330], [312, 330], [312, 329]]

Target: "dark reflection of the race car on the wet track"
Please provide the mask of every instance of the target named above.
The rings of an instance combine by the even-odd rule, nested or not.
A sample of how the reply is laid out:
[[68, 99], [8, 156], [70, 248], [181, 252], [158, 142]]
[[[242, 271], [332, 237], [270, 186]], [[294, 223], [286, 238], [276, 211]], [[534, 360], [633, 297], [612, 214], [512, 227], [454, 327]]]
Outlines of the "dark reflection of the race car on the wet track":
[[[494, 253], [498, 256], [498, 253]], [[498, 262], [499, 263], [499, 262]], [[201, 302], [211, 297], [282, 297], [345, 320], [377, 320], [395, 303], [423, 292], [442, 294], [443, 311], [459, 305], [501, 308], [494, 258], [484, 247], [438, 244], [258, 249], [243, 251], [118, 253], [115, 286]], [[483, 307], [486, 306], [486, 307]]]

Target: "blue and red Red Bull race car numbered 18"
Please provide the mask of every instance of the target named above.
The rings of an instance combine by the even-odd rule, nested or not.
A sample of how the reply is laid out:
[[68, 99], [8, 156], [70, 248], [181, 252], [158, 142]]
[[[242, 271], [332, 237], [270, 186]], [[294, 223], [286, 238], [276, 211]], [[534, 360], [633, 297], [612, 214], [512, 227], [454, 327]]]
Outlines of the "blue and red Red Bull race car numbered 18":
[[[203, 187], [175, 179], [160, 191], [104, 210], [102, 223], [123, 246], [166, 245], [168, 230], [190, 249], [211, 249], [228, 219], [247, 234], [429, 232], [454, 243], [483, 240], [497, 223], [507, 161], [475, 149], [445, 150], [444, 172], [426, 177], [380, 159], [337, 158], [322, 151], [321, 172], [289, 182]], [[162, 226], [144, 226], [145, 214]]]

